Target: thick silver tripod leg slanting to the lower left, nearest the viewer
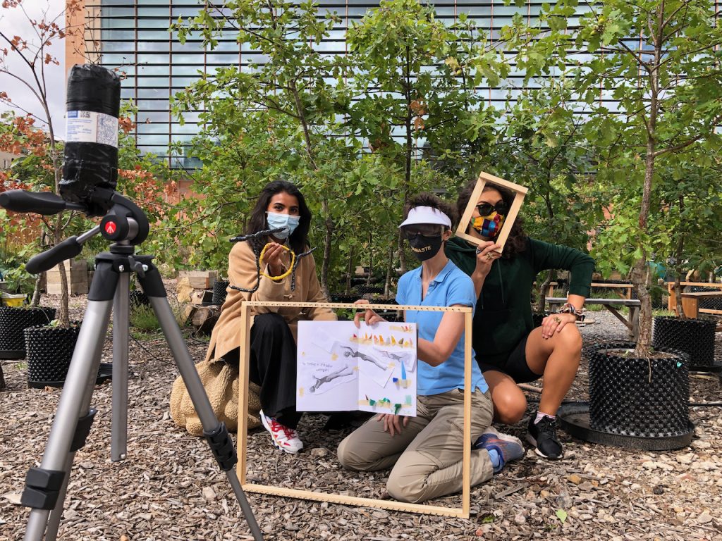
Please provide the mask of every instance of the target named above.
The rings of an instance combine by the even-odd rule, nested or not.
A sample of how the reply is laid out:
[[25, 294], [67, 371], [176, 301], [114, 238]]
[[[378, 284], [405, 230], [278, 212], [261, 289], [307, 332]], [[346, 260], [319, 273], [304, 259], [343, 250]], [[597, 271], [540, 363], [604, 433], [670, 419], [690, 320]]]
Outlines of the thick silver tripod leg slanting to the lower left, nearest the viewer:
[[[90, 399], [108, 330], [110, 305], [110, 301], [88, 302], [43, 460], [39, 468], [31, 468], [27, 472], [22, 504], [32, 507], [32, 510], [27, 521], [25, 541], [42, 540], [46, 526], [46, 540], [54, 540], [57, 535], [70, 465], [75, 451], [82, 447], [76, 436], [79, 433], [79, 420], [82, 416], [82, 420], [90, 418], [92, 421], [94, 414], [90, 411]], [[89, 424], [87, 428], [90, 429]]]

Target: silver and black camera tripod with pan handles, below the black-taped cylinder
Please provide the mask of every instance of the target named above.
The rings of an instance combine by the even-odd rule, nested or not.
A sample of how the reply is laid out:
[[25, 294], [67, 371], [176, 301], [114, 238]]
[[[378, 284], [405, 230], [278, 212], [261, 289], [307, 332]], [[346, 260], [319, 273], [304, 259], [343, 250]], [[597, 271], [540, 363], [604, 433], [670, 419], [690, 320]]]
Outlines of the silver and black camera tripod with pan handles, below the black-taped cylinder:
[[[111, 459], [125, 459], [128, 407], [128, 339], [129, 339], [129, 280], [135, 273], [160, 322], [178, 371], [183, 377], [193, 406], [199, 415], [204, 436], [219, 467], [238, 499], [248, 527], [255, 540], [262, 540], [253, 511], [236, 475], [238, 462], [233, 441], [224, 423], [218, 421], [191, 359], [173, 311], [170, 309], [160, 273], [153, 265], [152, 255], [134, 255], [135, 245], [149, 233], [144, 212], [132, 201], [117, 192], [97, 188], [93, 197], [112, 203], [110, 210], [90, 231], [64, 240], [51, 250], [36, 255], [26, 265], [30, 273], [47, 271], [63, 260], [73, 258], [82, 245], [95, 234], [113, 241], [108, 252], [95, 258], [95, 275], [88, 294], [77, 345], [58, 403], [48, 443], [40, 467], [27, 472], [21, 503], [31, 508], [25, 530], [25, 541], [54, 541], [63, 513], [70, 470], [75, 453], [81, 449], [90, 433], [96, 410], [90, 407], [95, 377], [105, 343], [105, 334], [113, 311], [113, 398]], [[11, 190], [0, 194], [0, 206], [11, 211], [57, 214], [84, 210], [84, 206], [69, 203], [53, 193], [31, 193]]]

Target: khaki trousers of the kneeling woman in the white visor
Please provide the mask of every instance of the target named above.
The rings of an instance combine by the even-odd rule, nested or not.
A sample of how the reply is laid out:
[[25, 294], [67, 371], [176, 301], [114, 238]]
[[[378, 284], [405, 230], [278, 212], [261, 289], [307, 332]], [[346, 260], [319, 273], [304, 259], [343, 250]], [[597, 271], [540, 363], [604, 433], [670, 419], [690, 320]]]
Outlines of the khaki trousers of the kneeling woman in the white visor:
[[[489, 392], [471, 395], [471, 443], [492, 423]], [[422, 502], [461, 492], [464, 439], [464, 391], [419, 396], [417, 416], [401, 434], [383, 430], [378, 415], [349, 434], [339, 445], [339, 462], [349, 470], [375, 471], [393, 467], [386, 490], [399, 501]], [[471, 451], [471, 486], [492, 477], [486, 449]]]

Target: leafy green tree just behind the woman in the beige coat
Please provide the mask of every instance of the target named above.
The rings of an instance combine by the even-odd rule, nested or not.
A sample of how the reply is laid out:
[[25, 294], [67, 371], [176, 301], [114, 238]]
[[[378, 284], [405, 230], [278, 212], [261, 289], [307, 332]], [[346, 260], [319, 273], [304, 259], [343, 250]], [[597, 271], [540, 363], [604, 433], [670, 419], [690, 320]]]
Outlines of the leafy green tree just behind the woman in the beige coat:
[[188, 92], [176, 96], [175, 110], [182, 113], [204, 105], [209, 113], [201, 115], [201, 120], [214, 123], [220, 133], [213, 135], [222, 135], [217, 138], [220, 144], [230, 140], [229, 128], [238, 118], [237, 111], [248, 118], [266, 117], [263, 124], [271, 124], [268, 144], [279, 152], [271, 155], [277, 162], [264, 172], [265, 179], [269, 172], [287, 175], [303, 187], [312, 210], [316, 201], [321, 207], [321, 286], [326, 294], [334, 214], [342, 211], [334, 205], [347, 193], [344, 171], [352, 167], [359, 150], [352, 138], [334, 138], [337, 115], [350, 99], [344, 82], [347, 61], [318, 50], [338, 19], [334, 14], [324, 16], [310, 3], [240, 0], [227, 2], [222, 10], [206, 6], [194, 19], [179, 19], [172, 27], [181, 42], [190, 32], [198, 32], [211, 50], [220, 40], [235, 39], [243, 49], [266, 57], [265, 63], [251, 63], [247, 71], [230, 66], [204, 74]]

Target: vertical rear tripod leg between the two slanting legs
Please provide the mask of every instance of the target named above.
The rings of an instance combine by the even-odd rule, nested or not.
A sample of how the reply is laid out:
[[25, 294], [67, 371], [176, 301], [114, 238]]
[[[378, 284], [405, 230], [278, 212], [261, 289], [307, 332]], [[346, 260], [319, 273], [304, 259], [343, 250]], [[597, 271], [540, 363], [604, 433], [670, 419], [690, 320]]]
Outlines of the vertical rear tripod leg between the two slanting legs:
[[128, 325], [130, 275], [118, 276], [113, 299], [113, 410], [111, 414], [110, 459], [126, 458], [128, 448]]

